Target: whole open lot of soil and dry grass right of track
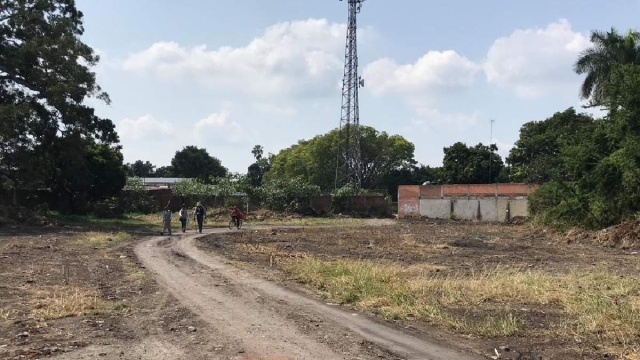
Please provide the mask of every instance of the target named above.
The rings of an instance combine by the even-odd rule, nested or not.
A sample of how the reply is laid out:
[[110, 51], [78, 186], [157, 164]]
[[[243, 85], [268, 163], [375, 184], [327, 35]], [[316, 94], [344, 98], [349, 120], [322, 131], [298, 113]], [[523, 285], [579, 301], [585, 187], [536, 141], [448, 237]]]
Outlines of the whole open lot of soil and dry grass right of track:
[[502, 359], [640, 359], [633, 251], [528, 226], [426, 222], [241, 231], [201, 246], [409, 331], [477, 339]]

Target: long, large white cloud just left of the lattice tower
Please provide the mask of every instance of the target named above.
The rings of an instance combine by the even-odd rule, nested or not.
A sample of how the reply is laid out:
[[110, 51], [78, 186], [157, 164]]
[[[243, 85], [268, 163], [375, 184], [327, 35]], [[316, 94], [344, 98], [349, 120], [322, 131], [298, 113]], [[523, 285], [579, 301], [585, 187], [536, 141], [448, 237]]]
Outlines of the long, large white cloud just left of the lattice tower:
[[335, 92], [342, 76], [346, 25], [325, 19], [283, 22], [244, 47], [184, 47], [158, 42], [130, 55], [125, 70], [195, 77], [207, 85], [273, 96]]

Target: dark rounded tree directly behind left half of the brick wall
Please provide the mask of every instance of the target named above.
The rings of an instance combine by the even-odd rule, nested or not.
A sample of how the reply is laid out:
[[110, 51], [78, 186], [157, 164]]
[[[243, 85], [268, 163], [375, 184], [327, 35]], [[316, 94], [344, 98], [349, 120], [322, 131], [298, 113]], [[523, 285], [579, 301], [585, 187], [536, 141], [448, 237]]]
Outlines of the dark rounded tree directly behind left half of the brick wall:
[[449, 184], [488, 184], [498, 180], [504, 167], [502, 158], [495, 152], [498, 147], [482, 143], [467, 146], [457, 142], [444, 148], [442, 180]]

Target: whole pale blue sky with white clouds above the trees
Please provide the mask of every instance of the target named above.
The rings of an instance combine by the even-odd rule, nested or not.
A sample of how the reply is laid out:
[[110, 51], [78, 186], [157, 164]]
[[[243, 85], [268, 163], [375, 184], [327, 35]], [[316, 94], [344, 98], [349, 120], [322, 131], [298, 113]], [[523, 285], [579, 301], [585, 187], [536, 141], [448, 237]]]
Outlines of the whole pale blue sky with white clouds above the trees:
[[[232, 172], [339, 126], [347, 4], [337, 0], [77, 0], [82, 39], [125, 162], [169, 165], [204, 147]], [[360, 124], [443, 148], [493, 141], [582, 109], [578, 54], [591, 30], [639, 30], [640, 0], [367, 0], [358, 15]], [[634, 22], [635, 20], [635, 22]], [[495, 120], [493, 130], [491, 119]]]

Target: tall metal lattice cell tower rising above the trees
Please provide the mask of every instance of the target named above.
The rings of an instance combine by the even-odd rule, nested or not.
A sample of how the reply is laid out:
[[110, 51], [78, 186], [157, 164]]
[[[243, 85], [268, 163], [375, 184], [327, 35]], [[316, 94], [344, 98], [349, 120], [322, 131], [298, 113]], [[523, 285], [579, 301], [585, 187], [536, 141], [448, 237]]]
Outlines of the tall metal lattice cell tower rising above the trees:
[[358, 88], [364, 86], [364, 80], [358, 76], [358, 27], [356, 19], [364, 1], [348, 0], [349, 24], [347, 26], [347, 45], [344, 56], [342, 115], [340, 118], [340, 140], [338, 143], [335, 183], [336, 189], [351, 183], [356, 193], [360, 191], [362, 185]]

